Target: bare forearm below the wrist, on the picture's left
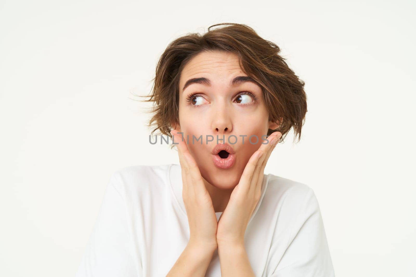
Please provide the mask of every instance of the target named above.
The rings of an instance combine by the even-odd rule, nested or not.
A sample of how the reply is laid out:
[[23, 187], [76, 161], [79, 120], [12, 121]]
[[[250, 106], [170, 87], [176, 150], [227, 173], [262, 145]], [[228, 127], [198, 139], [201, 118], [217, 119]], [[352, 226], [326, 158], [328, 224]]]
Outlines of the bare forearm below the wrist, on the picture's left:
[[188, 243], [166, 277], [205, 276], [215, 249]]

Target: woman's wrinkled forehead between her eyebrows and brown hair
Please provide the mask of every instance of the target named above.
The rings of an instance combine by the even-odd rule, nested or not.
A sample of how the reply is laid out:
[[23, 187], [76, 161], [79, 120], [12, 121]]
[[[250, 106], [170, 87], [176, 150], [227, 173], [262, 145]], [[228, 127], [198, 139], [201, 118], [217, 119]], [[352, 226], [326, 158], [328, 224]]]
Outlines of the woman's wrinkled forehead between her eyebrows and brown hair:
[[209, 76], [212, 80], [228, 81], [236, 75], [245, 76], [234, 53], [223, 51], [206, 51], [199, 53], [183, 67], [179, 79], [182, 88], [189, 78]]

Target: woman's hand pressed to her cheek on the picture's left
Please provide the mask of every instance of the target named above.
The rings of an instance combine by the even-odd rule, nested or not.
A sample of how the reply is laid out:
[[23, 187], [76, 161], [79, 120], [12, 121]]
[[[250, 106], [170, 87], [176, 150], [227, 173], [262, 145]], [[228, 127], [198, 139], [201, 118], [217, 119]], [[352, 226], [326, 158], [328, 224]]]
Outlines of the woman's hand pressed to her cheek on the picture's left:
[[[213, 248], [217, 244], [218, 221], [210, 194], [206, 190], [201, 172], [195, 159], [188, 150], [181, 134], [171, 130], [178, 148], [179, 162], [182, 169], [182, 197], [188, 216], [191, 245]], [[176, 144], [178, 143], [178, 144]]]

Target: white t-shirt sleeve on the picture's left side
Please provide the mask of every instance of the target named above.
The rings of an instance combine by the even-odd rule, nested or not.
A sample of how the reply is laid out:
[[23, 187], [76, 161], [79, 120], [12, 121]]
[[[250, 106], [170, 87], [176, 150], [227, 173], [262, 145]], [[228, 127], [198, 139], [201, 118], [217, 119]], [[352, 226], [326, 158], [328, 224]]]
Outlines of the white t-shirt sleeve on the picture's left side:
[[121, 176], [115, 172], [82, 257], [76, 277], [137, 277], [132, 254], [126, 202], [120, 194]]

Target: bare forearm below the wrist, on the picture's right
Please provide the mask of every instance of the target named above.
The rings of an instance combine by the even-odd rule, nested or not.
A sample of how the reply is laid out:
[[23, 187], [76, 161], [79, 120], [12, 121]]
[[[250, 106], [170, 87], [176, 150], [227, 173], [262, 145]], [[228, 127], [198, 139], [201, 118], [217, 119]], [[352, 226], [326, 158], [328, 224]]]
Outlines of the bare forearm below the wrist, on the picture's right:
[[255, 277], [243, 243], [237, 245], [218, 244], [218, 256], [221, 276]]

